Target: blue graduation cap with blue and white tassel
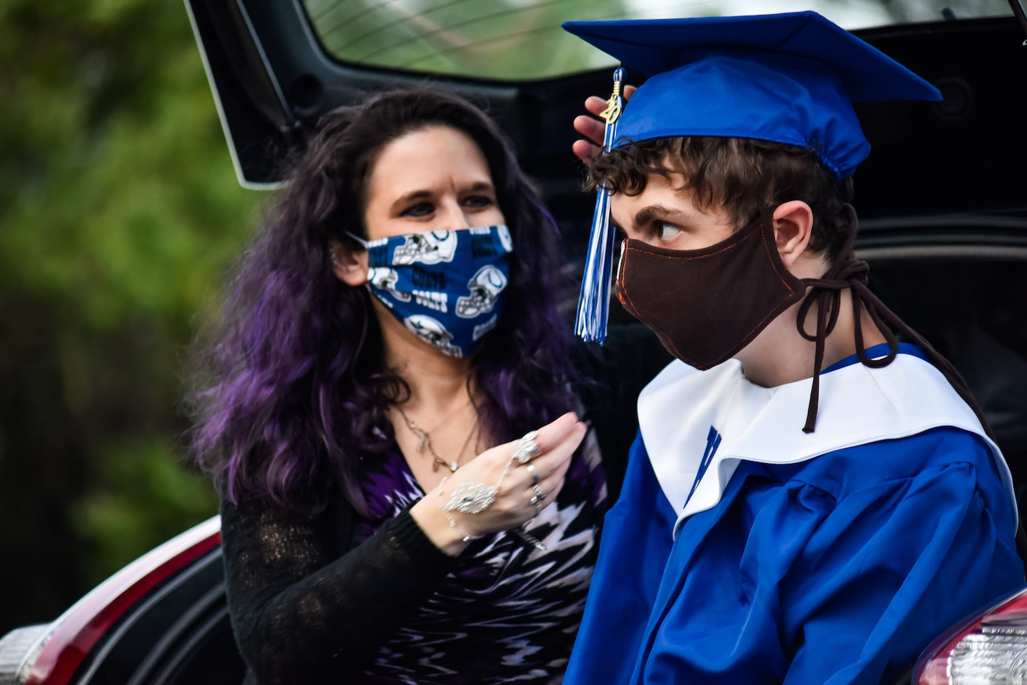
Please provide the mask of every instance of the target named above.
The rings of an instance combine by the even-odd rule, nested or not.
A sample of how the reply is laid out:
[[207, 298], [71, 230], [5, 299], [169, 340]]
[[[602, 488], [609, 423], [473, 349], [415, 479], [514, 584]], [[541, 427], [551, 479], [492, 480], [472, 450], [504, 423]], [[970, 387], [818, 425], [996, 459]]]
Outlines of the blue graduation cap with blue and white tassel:
[[[812, 11], [563, 26], [648, 77], [624, 104], [611, 147], [676, 136], [752, 138], [812, 149], [844, 179], [870, 152], [853, 103], [942, 99], [922, 78]], [[609, 270], [584, 274], [591, 283], [609, 277]], [[602, 289], [582, 282], [586, 290]], [[581, 306], [583, 298], [578, 334], [602, 341], [606, 304], [587, 305], [585, 319], [602, 322], [584, 334]]]

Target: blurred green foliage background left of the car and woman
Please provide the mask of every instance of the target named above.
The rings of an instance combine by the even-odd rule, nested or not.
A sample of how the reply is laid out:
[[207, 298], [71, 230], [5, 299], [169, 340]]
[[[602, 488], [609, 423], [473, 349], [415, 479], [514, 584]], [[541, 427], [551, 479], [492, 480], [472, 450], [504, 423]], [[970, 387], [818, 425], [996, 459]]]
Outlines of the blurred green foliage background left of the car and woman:
[[0, 3], [0, 635], [216, 510], [192, 318], [253, 225], [181, 3]]

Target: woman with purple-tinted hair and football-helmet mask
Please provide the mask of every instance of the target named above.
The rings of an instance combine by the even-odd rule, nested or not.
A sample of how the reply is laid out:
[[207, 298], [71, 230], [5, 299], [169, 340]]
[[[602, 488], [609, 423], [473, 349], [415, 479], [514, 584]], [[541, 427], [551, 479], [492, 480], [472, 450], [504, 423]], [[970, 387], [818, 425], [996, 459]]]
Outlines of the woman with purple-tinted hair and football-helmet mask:
[[196, 393], [249, 682], [559, 682], [606, 498], [561, 261], [464, 101], [325, 119]]

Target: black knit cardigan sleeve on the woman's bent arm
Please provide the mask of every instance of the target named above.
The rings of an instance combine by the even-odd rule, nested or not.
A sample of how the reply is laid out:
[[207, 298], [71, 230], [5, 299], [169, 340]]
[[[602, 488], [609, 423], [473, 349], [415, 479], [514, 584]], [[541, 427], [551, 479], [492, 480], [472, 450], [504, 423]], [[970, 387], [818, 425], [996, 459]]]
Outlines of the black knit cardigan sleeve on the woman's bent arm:
[[[456, 563], [406, 510], [335, 559], [338, 518], [328, 511], [294, 513], [261, 499], [222, 501], [232, 629], [263, 685], [342, 682]], [[349, 507], [345, 513], [353, 516]]]

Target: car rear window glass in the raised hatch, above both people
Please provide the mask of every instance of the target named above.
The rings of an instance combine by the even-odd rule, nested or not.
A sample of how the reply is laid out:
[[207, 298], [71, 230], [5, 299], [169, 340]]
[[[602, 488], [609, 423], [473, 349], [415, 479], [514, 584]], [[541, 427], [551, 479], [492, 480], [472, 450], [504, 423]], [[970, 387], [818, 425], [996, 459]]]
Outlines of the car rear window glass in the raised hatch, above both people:
[[400, 71], [526, 80], [611, 66], [569, 20], [813, 9], [846, 29], [1010, 15], [1006, 0], [303, 0], [334, 60]]

